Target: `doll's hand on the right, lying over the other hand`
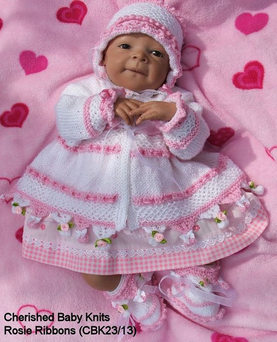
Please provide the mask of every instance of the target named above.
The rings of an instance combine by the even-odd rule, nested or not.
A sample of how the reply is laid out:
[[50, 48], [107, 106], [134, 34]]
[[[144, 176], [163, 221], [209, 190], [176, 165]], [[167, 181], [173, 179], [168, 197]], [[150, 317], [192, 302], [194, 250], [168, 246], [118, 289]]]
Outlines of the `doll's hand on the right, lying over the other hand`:
[[145, 120], [170, 121], [176, 113], [176, 105], [173, 102], [150, 101], [142, 103], [138, 108], [130, 112], [130, 116], [140, 115], [137, 124]]

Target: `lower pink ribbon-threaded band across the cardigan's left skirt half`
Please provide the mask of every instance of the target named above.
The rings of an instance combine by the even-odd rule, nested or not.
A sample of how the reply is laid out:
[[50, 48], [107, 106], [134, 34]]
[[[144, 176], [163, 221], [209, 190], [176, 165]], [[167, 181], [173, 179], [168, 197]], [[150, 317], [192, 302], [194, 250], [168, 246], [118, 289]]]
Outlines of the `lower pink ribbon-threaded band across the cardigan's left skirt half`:
[[31, 168], [30, 166], [26, 170], [29, 174], [31, 174], [34, 178], [39, 180], [44, 185], [50, 186], [55, 190], [59, 190], [68, 194], [69, 196], [73, 196], [76, 198], [80, 198], [83, 201], [93, 201], [100, 203], [115, 203], [118, 200], [118, 194], [110, 195], [110, 194], [101, 194], [101, 193], [88, 193], [77, 191], [74, 188], [71, 188], [65, 184], [57, 182], [51, 179], [49, 176], [42, 174], [41, 172]]

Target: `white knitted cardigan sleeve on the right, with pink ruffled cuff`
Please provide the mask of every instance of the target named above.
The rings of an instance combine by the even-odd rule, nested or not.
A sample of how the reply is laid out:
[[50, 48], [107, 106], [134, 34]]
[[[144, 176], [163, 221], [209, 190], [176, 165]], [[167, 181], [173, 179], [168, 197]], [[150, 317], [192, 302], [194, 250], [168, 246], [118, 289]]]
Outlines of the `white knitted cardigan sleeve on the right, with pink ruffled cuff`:
[[190, 159], [202, 151], [209, 128], [202, 118], [203, 107], [194, 102], [190, 92], [175, 87], [165, 102], [174, 102], [176, 112], [170, 121], [155, 120], [170, 152], [181, 159]]

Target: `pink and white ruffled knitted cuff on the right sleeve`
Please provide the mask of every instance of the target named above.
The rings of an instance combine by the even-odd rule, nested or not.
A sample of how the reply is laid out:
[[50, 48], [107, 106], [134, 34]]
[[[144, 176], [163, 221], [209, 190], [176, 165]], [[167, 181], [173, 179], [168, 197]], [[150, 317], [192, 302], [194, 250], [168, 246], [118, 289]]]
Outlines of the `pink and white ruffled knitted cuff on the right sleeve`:
[[156, 123], [156, 127], [164, 133], [171, 132], [174, 128], [180, 127], [180, 125], [187, 119], [187, 105], [182, 99], [182, 94], [176, 91], [166, 97], [165, 102], [173, 102], [176, 104], [176, 112], [170, 121], [153, 120]]

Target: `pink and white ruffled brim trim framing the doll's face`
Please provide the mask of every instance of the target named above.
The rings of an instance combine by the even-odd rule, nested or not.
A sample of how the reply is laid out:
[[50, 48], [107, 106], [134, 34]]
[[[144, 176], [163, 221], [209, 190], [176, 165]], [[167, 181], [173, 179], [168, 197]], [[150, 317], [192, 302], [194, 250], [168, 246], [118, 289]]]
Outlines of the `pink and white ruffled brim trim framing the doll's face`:
[[[176, 82], [176, 79], [180, 77], [183, 72], [181, 68], [181, 64], [180, 64], [181, 47], [178, 47], [178, 42], [175, 36], [173, 36], [173, 34], [158, 21], [149, 17], [136, 16], [136, 15], [121, 17], [112, 25], [112, 27], [108, 31], [102, 34], [101, 45], [104, 45], [103, 41], [106, 41], [106, 44], [103, 47], [105, 48], [107, 43], [114, 37], [120, 34], [128, 34], [128, 33], [134, 33], [134, 32], [139, 32], [139, 33], [144, 33], [144, 34], [149, 34], [151, 32], [153, 37], [156, 37], [157, 38], [156, 40], [159, 41], [161, 45], [166, 46], [169, 48], [169, 50], [171, 50], [171, 52], [173, 53], [173, 56], [170, 56], [172, 57], [170, 58], [170, 62], [175, 64], [175, 68], [174, 70], [172, 69], [169, 71], [168, 81], [166, 82], [166, 85], [168, 85], [169, 88], [173, 87], [173, 85]], [[99, 47], [97, 48], [98, 50], [100, 49]], [[107, 78], [106, 69], [104, 66], [102, 67], [99, 65], [100, 61], [96, 60], [97, 57], [99, 58], [99, 56], [95, 54], [93, 64], [97, 66], [99, 76], [102, 78]], [[100, 58], [101, 57], [102, 56], [100, 56]], [[174, 71], [175, 73], [173, 74]]]

